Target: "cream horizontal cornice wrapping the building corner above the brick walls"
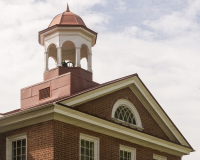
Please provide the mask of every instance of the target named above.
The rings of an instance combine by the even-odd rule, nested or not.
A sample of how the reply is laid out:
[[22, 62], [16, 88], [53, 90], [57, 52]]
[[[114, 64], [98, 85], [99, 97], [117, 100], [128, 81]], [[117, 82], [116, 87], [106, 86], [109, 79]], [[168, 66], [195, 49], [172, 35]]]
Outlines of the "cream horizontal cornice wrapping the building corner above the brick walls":
[[77, 127], [84, 127], [85, 129], [94, 132], [130, 141], [144, 147], [153, 148], [177, 156], [183, 156], [192, 152], [190, 147], [169, 142], [132, 128], [88, 115], [70, 107], [64, 107], [59, 103], [47, 104], [1, 117], [0, 133], [49, 120], [58, 120]]

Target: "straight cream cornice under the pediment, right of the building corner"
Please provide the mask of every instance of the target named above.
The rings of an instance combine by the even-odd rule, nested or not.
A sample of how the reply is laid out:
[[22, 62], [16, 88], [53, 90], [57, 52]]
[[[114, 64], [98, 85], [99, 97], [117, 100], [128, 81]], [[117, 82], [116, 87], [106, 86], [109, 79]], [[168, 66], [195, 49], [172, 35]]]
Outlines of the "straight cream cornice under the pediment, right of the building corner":
[[[88, 114], [85, 114], [85, 113], [82, 113], [82, 112], [79, 112], [79, 111], [76, 111], [73, 109], [70, 109], [70, 108], [62, 107], [62, 106], [59, 106], [58, 104], [55, 105], [54, 111], [55, 111], [55, 113], [58, 113], [60, 115], [70, 117], [71, 119], [67, 119], [66, 123], [70, 122], [71, 124], [74, 124], [77, 126], [80, 125], [79, 127], [84, 127], [84, 128], [87, 128], [84, 125], [84, 123], [89, 124], [88, 125], [89, 128], [87, 128], [87, 129], [90, 129], [90, 130], [93, 130], [96, 132], [100, 131], [103, 134], [110, 134], [110, 136], [115, 135], [117, 138], [120, 138], [120, 135], [125, 135], [126, 139], [124, 139], [124, 140], [127, 140], [127, 137], [131, 137], [132, 140], [134, 140], [134, 139], [139, 140], [138, 144], [143, 145], [145, 147], [149, 147], [149, 146], [153, 147], [154, 146], [155, 149], [160, 150], [160, 151], [165, 151], [167, 153], [169, 152], [168, 150], [173, 150], [173, 151], [177, 152], [176, 155], [179, 155], [179, 156], [180, 156], [180, 154], [182, 154], [182, 155], [190, 154], [190, 152], [191, 152], [190, 148], [187, 148], [187, 147], [184, 147], [184, 146], [181, 146], [181, 145], [178, 145], [178, 144], [175, 144], [175, 143], [172, 143], [172, 142], [169, 142], [169, 141], [157, 138], [157, 137], [153, 137], [151, 135], [148, 135], [148, 134], [145, 134], [145, 133], [142, 133], [142, 132], [139, 132], [139, 131], [136, 131], [136, 130], [133, 130], [133, 129], [130, 129], [130, 128], [100, 119], [100, 118], [97, 118], [97, 117], [94, 117], [94, 116], [91, 116], [91, 115], [88, 115]], [[55, 119], [60, 120], [59, 117], [57, 117], [57, 118], [56, 117], [57, 116], [55, 116]], [[79, 122], [73, 123], [72, 121], [75, 121], [75, 120], [81, 121], [84, 123], [79, 123]], [[104, 130], [109, 130], [109, 132], [106, 132]], [[115, 134], [113, 134], [113, 133], [115, 133]], [[137, 141], [134, 140], [133, 143], [137, 143]], [[172, 152], [170, 152], [170, 153], [172, 153]]]

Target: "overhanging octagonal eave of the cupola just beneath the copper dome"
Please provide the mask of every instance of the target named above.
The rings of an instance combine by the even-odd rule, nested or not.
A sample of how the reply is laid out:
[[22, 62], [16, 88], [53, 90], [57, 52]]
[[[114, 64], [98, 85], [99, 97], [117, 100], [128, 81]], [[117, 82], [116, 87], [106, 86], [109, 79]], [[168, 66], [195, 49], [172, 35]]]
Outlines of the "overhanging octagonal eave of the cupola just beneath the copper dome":
[[42, 46], [44, 46], [44, 37], [45, 35], [48, 35], [50, 33], [56, 32], [56, 31], [62, 31], [62, 30], [77, 30], [77, 31], [81, 31], [89, 36], [92, 37], [92, 47], [96, 44], [96, 40], [97, 40], [97, 33], [94, 32], [93, 30], [83, 26], [83, 25], [61, 25], [61, 24], [57, 24], [54, 25], [52, 27], [49, 27], [47, 29], [44, 29], [42, 31], [40, 31], [38, 33], [38, 41], [39, 44], [41, 44]]

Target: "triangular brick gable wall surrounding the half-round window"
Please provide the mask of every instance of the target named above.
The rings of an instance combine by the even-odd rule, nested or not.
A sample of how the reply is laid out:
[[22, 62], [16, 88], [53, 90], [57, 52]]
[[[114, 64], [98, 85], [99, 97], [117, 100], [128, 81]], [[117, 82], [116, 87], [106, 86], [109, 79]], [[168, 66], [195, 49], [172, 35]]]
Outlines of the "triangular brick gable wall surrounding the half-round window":
[[153, 119], [151, 114], [149, 114], [149, 112], [146, 110], [146, 108], [143, 106], [143, 104], [139, 101], [139, 99], [135, 96], [130, 88], [121, 89], [114, 93], [81, 104], [75, 108], [77, 110], [88, 112], [92, 115], [96, 115], [107, 120], [112, 120], [112, 108], [118, 99], [127, 99], [134, 104], [142, 121], [142, 125], [144, 128], [143, 132], [170, 141], [165, 132], [160, 128], [158, 123]]

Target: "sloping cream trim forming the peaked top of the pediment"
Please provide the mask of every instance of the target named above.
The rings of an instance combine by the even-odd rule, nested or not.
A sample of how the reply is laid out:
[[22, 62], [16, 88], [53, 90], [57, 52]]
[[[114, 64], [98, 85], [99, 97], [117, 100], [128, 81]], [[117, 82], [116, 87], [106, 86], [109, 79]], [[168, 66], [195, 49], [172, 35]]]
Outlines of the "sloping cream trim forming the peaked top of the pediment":
[[170, 129], [170, 131], [174, 134], [174, 136], [179, 140], [179, 142], [182, 145], [190, 147], [189, 144], [183, 138], [183, 136], [180, 134], [180, 132], [176, 129], [176, 127], [173, 125], [170, 119], [166, 116], [166, 114], [160, 108], [160, 106], [155, 101], [155, 99], [151, 96], [149, 91], [145, 88], [145, 86], [141, 83], [141, 81], [136, 76], [92, 90], [90, 92], [78, 95], [68, 100], [64, 100], [62, 101], [62, 103], [68, 106], [72, 106], [72, 107], [77, 106], [79, 104], [104, 96], [106, 94], [117, 91], [119, 89], [129, 87], [130, 84], [135, 84], [137, 86], [139, 91], [143, 94], [146, 100], [150, 103], [151, 107], [156, 111], [158, 116], [162, 119], [162, 121], [166, 124], [166, 126]]

